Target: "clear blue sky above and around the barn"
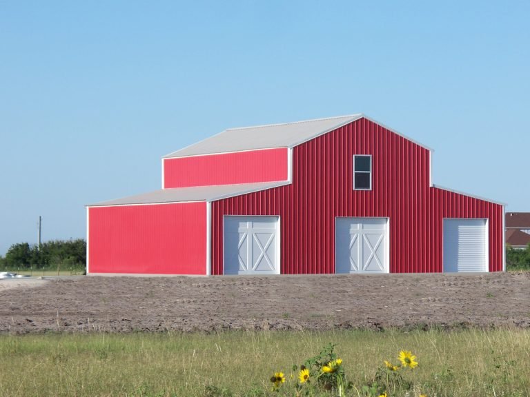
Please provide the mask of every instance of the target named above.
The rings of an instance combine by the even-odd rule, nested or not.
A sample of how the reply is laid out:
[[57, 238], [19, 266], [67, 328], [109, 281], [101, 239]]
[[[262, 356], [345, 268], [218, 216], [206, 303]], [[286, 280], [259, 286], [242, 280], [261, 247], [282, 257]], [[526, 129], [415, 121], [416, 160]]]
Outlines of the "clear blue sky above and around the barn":
[[362, 112], [530, 212], [530, 2], [0, 0], [0, 254], [226, 128]]

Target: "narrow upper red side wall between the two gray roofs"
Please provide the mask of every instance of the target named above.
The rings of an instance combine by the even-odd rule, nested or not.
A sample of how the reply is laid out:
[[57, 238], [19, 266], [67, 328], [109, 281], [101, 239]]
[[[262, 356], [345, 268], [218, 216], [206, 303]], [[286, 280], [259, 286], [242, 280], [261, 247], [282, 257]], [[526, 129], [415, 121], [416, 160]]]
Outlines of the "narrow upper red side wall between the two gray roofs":
[[252, 150], [164, 159], [164, 188], [286, 181], [288, 150]]

